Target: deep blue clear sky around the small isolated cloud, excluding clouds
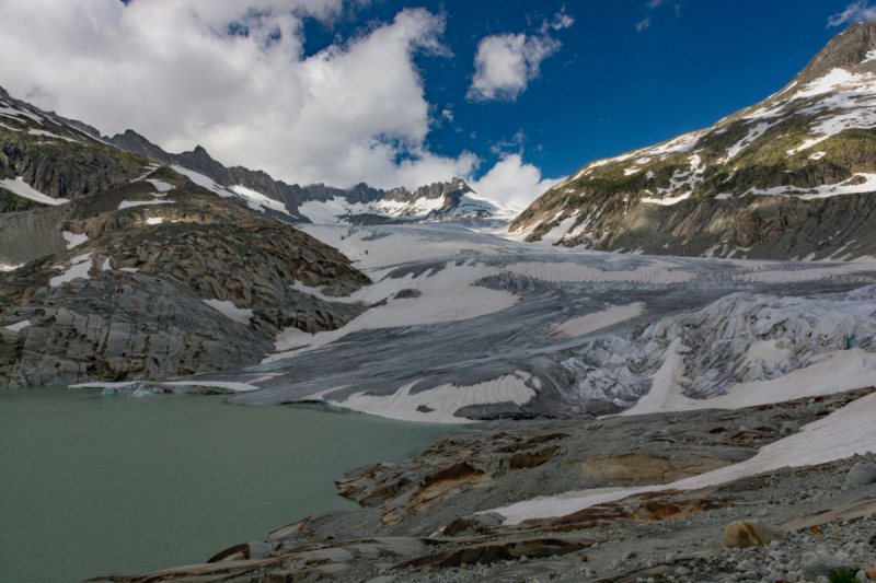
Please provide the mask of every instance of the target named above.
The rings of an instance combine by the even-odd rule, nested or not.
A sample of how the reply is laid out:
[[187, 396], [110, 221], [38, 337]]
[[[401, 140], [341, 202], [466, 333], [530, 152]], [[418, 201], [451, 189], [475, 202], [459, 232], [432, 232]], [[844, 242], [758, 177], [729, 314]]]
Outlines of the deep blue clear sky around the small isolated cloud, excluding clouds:
[[[522, 147], [526, 161], [550, 177], [591, 160], [708, 127], [785, 85], [842, 30], [828, 19], [848, 0], [509, 0], [480, 2], [383, 0], [333, 26], [310, 21], [306, 48], [321, 50], [362, 22], [385, 21], [405, 7], [447, 14], [452, 57], [418, 57], [425, 90], [438, 107], [452, 105], [454, 124], [429, 133], [436, 151], [468, 149], [487, 161]], [[534, 33], [565, 12], [575, 23], [552, 36], [560, 50], [514, 102], [472, 102], [477, 43], [487, 35]], [[638, 31], [637, 23], [649, 25]], [[515, 136], [526, 136], [522, 144]], [[512, 143], [512, 145], [510, 145]]]

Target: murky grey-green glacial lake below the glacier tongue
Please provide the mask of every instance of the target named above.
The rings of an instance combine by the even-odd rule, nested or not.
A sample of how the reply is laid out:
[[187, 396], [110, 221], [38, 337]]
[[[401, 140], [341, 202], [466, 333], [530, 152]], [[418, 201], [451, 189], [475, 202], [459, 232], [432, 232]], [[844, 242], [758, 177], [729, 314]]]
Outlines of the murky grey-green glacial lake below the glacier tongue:
[[204, 562], [311, 514], [356, 509], [349, 469], [456, 428], [224, 396], [0, 390], [0, 581], [77, 582]]

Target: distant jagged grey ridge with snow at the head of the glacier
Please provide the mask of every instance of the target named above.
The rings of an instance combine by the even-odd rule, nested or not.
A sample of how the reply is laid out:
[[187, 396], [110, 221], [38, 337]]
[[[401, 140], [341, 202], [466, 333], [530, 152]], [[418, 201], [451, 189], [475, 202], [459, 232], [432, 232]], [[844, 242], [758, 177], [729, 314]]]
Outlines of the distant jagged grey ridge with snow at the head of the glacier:
[[230, 196], [246, 197], [247, 190], [280, 202], [293, 222], [334, 224], [388, 224], [452, 220], [508, 222], [520, 210], [479, 196], [459, 178], [417, 188], [381, 190], [367, 184], [333, 188], [323, 184], [299, 186], [275, 180], [261, 171], [226, 167], [198, 145], [192, 152], [170, 154], [132, 130], [105, 140], [118, 148], [160, 164], [203, 174]]

